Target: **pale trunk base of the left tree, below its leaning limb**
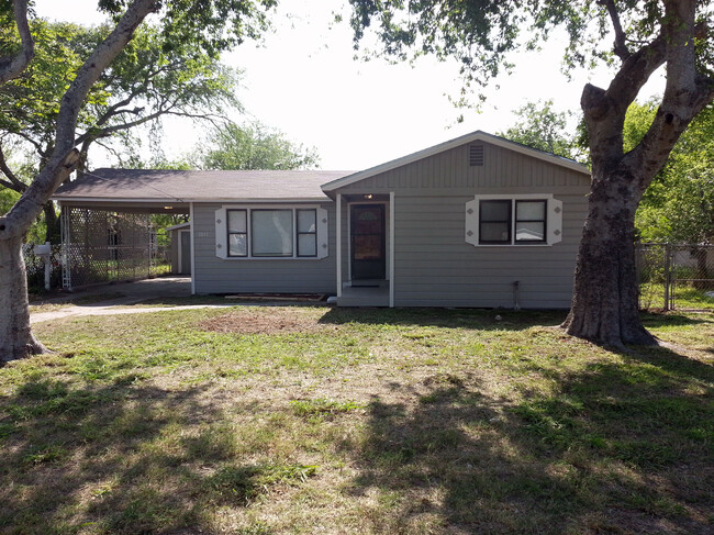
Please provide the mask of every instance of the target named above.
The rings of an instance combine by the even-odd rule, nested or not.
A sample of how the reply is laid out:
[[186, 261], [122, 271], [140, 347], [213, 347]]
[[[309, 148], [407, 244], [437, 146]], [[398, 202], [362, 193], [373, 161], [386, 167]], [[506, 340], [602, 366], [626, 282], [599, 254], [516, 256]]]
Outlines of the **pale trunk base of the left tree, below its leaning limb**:
[[0, 363], [46, 352], [30, 330], [22, 237], [0, 239]]

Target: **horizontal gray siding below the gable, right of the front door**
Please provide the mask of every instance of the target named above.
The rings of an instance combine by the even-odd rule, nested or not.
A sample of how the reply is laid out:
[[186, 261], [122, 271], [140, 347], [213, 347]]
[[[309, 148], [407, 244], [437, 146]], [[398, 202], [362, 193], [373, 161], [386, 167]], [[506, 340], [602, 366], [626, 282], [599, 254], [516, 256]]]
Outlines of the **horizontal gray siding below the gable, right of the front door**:
[[397, 306], [568, 308], [587, 200], [562, 201], [562, 242], [547, 246], [478, 246], [464, 237], [468, 197], [400, 197], [395, 203]]

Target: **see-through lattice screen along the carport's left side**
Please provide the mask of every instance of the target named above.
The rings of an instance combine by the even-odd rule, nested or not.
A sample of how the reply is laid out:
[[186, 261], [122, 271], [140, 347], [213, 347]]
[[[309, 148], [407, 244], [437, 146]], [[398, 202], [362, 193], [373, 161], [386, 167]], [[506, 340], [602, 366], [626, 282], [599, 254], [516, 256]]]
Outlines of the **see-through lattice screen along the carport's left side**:
[[156, 232], [149, 214], [63, 207], [63, 287], [147, 278]]

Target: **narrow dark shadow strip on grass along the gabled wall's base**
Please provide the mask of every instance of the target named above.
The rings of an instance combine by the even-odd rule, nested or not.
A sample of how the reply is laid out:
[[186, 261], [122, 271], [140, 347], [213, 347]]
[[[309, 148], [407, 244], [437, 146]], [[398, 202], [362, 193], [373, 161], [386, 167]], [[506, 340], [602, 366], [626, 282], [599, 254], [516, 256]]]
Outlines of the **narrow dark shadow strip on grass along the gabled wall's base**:
[[[348, 309], [328, 310], [320, 323], [343, 325], [415, 325], [473, 330], [522, 331], [535, 325], [559, 325], [567, 311], [476, 309]], [[499, 316], [500, 319], [497, 319]]]

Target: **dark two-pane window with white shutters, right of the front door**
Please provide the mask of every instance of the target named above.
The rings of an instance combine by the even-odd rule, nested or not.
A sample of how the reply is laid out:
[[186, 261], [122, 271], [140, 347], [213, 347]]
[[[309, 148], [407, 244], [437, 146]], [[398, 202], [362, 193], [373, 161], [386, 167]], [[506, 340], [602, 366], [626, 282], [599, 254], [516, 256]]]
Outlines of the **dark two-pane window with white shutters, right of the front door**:
[[471, 245], [553, 245], [561, 234], [562, 202], [553, 194], [476, 196], [466, 203]]

